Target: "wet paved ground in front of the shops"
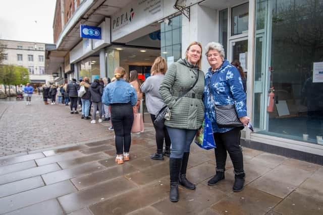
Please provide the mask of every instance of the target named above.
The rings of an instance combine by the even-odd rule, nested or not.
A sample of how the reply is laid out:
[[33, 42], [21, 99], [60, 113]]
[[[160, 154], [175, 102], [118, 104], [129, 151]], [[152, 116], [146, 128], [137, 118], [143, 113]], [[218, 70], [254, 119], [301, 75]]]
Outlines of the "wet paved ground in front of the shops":
[[114, 132], [90, 124], [62, 105], [0, 101], [0, 214], [323, 214], [323, 167], [244, 148], [246, 186], [232, 192], [226, 178], [207, 181], [214, 152], [192, 144], [187, 178], [169, 200], [169, 162], [155, 152], [150, 122], [133, 134], [131, 159], [115, 164]]

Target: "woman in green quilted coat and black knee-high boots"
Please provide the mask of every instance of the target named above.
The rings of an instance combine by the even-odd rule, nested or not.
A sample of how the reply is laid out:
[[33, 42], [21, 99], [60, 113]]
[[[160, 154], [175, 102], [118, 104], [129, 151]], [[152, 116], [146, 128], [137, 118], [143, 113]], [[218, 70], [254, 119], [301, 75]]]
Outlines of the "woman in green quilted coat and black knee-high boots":
[[[172, 142], [171, 201], [178, 201], [179, 183], [187, 189], [195, 189], [195, 185], [186, 178], [186, 168], [191, 142], [204, 117], [204, 73], [200, 70], [201, 56], [201, 44], [192, 42], [186, 49], [185, 59], [169, 65], [159, 88], [161, 98], [171, 110], [171, 119], [165, 121]], [[184, 96], [181, 97], [182, 95]], [[179, 97], [181, 98], [177, 100]]]

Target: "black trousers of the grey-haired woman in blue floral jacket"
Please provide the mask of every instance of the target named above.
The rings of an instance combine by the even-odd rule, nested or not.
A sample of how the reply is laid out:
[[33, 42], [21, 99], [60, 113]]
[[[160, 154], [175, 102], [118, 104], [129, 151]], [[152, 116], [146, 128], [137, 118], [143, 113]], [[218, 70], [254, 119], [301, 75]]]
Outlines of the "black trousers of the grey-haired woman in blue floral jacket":
[[227, 151], [231, 158], [235, 173], [242, 173], [243, 156], [240, 148], [240, 128], [234, 128], [224, 133], [214, 133], [217, 148], [214, 149], [217, 161], [217, 171], [224, 171], [227, 160]]

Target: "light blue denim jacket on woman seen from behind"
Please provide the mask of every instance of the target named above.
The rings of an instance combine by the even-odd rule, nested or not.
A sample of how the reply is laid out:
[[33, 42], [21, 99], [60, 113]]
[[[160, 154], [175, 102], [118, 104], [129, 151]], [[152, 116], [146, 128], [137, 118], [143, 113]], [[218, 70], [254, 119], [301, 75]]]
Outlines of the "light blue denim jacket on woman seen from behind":
[[137, 103], [137, 92], [125, 80], [116, 80], [105, 86], [102, 94], [102, 102], [105, 105], [131, 102], [131, 105], [134, 106]]

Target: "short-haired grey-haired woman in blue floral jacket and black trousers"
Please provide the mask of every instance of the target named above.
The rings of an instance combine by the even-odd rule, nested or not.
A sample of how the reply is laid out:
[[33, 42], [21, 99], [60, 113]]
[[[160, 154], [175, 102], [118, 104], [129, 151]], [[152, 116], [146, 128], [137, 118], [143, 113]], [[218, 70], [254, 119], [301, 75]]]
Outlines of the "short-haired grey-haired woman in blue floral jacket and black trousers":
[[243, 156], [240, 145], [241, 127], [219, 127], [216, 121], [216, 110], [214, 105], [235, 105], [240, 121], [247, 125], [246, 94], [243, 91], [242, 79], [238, 69], [224, 60], [225, 52], [220, 43], [210, 42], [206, 45], [207, 61], [210, 68], [205, 75], [204, 106], [208, 112], [214, 139], [217, 148], [214, 150], [217, 161], [216, 175], [208, 181], [208, 185], [215, 185], [223, 180], [227, 151], [233, 163], [235, 182], [233, 191], [239, 192], [243, 189], [245, 173], [243, 169]]

